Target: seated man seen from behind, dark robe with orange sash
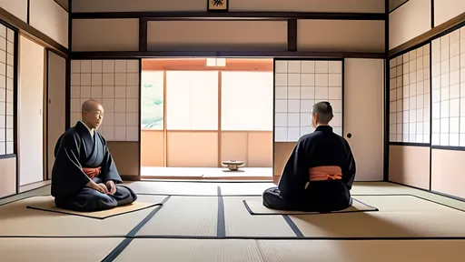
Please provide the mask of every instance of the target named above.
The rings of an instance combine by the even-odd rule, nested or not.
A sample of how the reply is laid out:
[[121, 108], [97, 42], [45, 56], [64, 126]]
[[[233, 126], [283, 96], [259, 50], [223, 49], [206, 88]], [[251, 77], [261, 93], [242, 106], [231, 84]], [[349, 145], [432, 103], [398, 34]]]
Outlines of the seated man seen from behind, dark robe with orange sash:
[[282, 170], [277, 187], [263, 193], [272, 209], [331, 212], [351, 207], [355, 160], [349, 143], [333, 133], [328, 102], [312, 106], [312, 134], [302, 136]]

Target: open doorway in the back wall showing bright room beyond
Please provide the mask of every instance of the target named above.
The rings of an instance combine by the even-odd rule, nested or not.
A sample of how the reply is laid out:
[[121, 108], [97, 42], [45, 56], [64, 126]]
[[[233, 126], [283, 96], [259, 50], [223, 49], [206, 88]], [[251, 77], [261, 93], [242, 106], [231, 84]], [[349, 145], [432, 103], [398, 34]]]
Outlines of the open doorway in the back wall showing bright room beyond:
[[272, 58], [143, 59], [141, 84], [142, 178], [272, 180]]

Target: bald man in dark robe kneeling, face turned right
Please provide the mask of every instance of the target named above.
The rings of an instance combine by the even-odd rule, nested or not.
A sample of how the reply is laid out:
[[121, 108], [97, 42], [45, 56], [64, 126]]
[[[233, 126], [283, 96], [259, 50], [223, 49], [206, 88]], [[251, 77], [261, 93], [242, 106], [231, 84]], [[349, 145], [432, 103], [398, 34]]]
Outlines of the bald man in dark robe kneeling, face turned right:
[[93, 212], [133, 203], [137, 196], [122, 184], [106, 140], [96, 129], [104, 108], [94, 100], [82, 106], [82, 120], [54, 147], [52, 196], [56, 207]]

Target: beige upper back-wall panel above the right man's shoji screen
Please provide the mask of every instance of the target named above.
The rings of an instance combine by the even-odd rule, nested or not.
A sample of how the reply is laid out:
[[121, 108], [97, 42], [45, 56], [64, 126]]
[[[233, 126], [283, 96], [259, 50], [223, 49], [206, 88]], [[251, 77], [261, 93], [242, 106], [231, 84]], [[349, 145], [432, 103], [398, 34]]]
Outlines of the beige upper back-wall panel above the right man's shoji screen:
[[384, 52], [384, 36], [384, 21], [297, 21], [299, 51]]

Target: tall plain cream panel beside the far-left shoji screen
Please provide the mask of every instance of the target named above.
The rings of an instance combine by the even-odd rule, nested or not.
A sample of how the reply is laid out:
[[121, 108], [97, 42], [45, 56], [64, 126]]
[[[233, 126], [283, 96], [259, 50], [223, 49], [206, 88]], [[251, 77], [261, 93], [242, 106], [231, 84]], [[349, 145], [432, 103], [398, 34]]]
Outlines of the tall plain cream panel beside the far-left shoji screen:
[[45, 49], [21, 36], [19, 50], [18, 154], [23, 186], [42, 181], [44, 176]]

